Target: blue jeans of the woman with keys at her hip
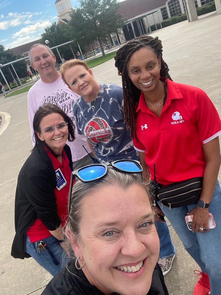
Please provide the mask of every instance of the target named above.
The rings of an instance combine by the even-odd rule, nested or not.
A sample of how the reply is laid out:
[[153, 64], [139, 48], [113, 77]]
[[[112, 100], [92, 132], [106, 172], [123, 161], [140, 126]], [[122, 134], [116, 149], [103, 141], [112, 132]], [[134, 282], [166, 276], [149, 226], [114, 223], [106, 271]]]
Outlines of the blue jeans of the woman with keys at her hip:
[[[47, 237], [43, 239], [44, 243], [50, 249], [54, 258], [60, 263], [55, 265], [52, 257], [48, 253], [48, 250], [42, 251], [40, 249], [37, 252], [36, 242], [31, 243], [28, 235], [26, 235], [26, 246], [25, 250], [28, 254], [34, 258], [34, 260], [42, 266], [46, 271], [48, 271], [52, 276], [55, 276], [62, 268], [65, 268], [66, 264], [69, 262], [70, 258], [67, 256], [65, 251], [61, 248], [58, 240], [54, 236]], [[40, 241], [38, 241], [40, 242]]]

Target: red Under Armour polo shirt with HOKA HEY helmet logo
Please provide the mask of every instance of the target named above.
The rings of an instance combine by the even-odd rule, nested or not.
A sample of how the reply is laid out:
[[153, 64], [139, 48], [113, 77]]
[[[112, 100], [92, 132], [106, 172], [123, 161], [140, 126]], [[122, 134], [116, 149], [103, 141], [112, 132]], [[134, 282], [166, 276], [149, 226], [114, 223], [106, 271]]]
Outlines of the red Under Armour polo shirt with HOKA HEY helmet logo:
[[[164, 81], [165, 78], [161, 78]], [[220, 117], [207, 94], [196, 87], [167, 79], [167, 99], [158, 118], [141, 93], [137, 105], [134, 148], [145, 152], [151, 179], [163, 185], [202, 177], [202, 145], [221, 134]]]

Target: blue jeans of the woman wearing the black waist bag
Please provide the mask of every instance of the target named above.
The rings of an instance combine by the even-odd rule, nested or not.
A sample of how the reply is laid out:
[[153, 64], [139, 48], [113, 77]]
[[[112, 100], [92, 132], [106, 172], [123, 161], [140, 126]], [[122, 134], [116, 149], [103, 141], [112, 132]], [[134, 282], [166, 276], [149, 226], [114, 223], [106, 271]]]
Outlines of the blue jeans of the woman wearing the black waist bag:
[[[160, 201], [158, 204], [161, 206]], [[209, 212], [212, 213], [216, 227], [204, 234], [192, 232], [187, 228], [185, 216], [197, 205], [169, 209], [164, 206], [161, 210], [169, 219], [171, 225], [182, 241], [184, 248], [196, 261], [201, 270], [208, 273], [212, 295], [221, 294], [221, 191], [217, 180], [210, 202]]]

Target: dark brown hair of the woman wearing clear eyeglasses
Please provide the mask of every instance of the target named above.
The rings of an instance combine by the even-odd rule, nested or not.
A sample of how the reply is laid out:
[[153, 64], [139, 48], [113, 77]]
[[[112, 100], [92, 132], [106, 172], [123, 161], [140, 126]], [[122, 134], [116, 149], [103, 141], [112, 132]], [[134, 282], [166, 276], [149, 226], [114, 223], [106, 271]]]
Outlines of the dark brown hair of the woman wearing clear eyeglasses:
[[72, 122], [72, 119], [70, 117], [68, 117], [67, 114], [65, 114], [65, 112], [60, 109], [60, 107], [56, 106], [55, 104], [43, 104], [43, 106], [40, 106], [39, 109], [37, 110], [37, 112], [34, 114], [34, 119], [33, 119], [33, 129], [34, 129], [34, 134], [33, 134], [33, 140], [35, 142], [34, 148], [32, 149], [32, 152], [34, 150], [36, 150], [37, 148], [41, 148], [44, 149], [44, 147], [47, 147], [50, 152], [52, 153], [52, 155], [54, 155], [55, 157], [57, 157], [57, 155], [51, 150], [51, 148], [45, 143], [45, 141], [42, 141], [39, 139], [39, 137], [37, 136], [36, 132], [40, 131], [40, 123], [42, 121], [42, 119], [50, 114], [60, 114], [64, 121], [67, 124], [67, 128], [68, 128], [68, 141], [74, 141], [75, 140], [75, 125]]

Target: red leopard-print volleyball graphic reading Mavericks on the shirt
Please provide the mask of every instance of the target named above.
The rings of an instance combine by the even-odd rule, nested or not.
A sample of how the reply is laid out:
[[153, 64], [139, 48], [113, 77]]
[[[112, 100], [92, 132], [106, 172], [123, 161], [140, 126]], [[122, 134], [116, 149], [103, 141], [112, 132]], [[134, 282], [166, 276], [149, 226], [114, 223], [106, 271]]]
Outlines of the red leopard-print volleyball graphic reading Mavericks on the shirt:
[[93, 118], [85, 126], [85, 137], [95, 143], [109, 142], [113, 136], [113, 132], [108, 123], [100, 118]]

